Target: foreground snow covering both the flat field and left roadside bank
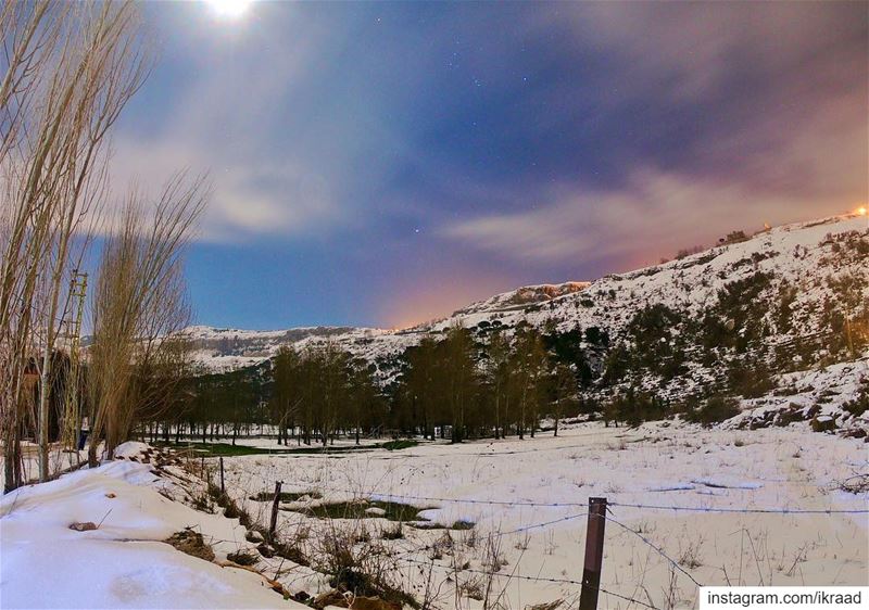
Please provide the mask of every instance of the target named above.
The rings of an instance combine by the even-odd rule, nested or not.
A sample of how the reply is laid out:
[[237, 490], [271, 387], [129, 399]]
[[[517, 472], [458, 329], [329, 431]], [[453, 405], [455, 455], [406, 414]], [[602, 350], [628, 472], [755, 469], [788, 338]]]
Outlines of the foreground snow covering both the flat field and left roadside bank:
[[[188, 506], [203, 488], [194, 476], [199, 460], [192, 471], [169, 466], [158, 476], [152, 465], [128, 460], [142, 448], [128, 444], [118, 461], [3, 497], [0, 606], [295, 605], [263, 577], [221, 567], [238, 550], [259, 557], [255, 568], [289, 593], [330, 588], [312, 568], [260, 557], [259, 541], [245, 539], [247, 529], [219, 508]], [[385, 539], [399, 524], [374, 508], [356, 520], [281, 510], [278, 531], [314, 563], [324, 539], [356, 539], [351, 546], [368, 565], [438, 608], [482, 608], [486, 596], [502, 608], [556, 600], [576, 608], [588, 498], [606, 497], [601, 587], [609, 593], [600, 608], [641, 607], [626, 600], [634, 599], [664, 609], [695, 608], [695, 582], [869, 584], [869, 495], [839, 490], [869, 472], [868, 458], [861, 440], [814, 433], [806, 423], [747, 431], [670, 421], [637, 429], [579, 423], [557, 439], [545, 432], [394, 452], [234, 457], [225, 467], [227, 491], [261, 524], [270, 503], [251, 496], [270, 494], [278, 480], [284, 492], [311, 494], [284, 509], [363, 499], [426, 508], [419, 517], [450, 529], [404, 523], [402, 537]], [[215, 482], [216, 463], [206, 460]], [[84, 521], [99, 529], [68, 528]], [[475, 525], [454, 529], [457, 521]], [[203, 535], [213, 561], [161, 542], [187, 528]]]

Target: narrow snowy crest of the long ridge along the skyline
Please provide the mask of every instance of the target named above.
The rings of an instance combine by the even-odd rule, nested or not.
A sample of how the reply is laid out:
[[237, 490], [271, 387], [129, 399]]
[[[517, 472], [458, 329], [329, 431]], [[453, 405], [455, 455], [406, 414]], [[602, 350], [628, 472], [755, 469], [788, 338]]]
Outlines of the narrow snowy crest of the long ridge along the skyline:
[[[833, 216], [808, 223], [768, 228], [673, 260], [624, 274], [609, 274], [593, 281], [520, 287], [459, 308], [450, 316], [405, 329], [347, 326], [299, 327], [274, 331], [248, 331], [196, 326], [188, 329], [197, 361], [206, 370], [227, 371], [260, 364], [281, 345], [303, 347], [331, 340], [355, 355], [376, 360], [394, 355], [429, 332], [442, 332], [455, 323], [476, 327], [500, 320], [511, 327], [524, 319], [532, 326], [555, 325], [561, 330], [575, 326], [606, 329], [617, 334], [637, 309], [654, 303], [697, 313], [727, 282], [768, 272], [788, 282], [805, 282], [826, 269], [835, 274], [835, 260], [824, 260], [828, 233], [859, 234], [866, 221], [855, 215]], [[861, 238], [865, 242], [865, 237]], [[830, 245], [830, 244], [828, 244]], [[846, 262], [847, 269], [862, 274], [866, 255]], [[829, 258], [829, 256], [828, 256]], [[841, 266], [841, 265], [840, 265]], [[796, 302], [822, 300], [824, 287], [801, 291]], [[809, 294], [806, 297], [806, 294]], [[739, 329], [738, 329], [739, 330]], [[374, 347], [371, 347], [374, 346]]]

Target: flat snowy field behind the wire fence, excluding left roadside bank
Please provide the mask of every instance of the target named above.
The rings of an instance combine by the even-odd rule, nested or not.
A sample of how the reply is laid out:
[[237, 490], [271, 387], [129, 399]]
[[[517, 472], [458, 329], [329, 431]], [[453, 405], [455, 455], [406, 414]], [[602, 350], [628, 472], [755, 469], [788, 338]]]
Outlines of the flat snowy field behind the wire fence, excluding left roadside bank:
[[[261, 522], [268, 503], [249, 498], [280, 480], [285, 492], [324, 495], [301, 505], [392, 499], [429, 508], [423, 517], [436, 523], [476, 523], [451, 530], [452, 542], [446, 530], [405, 525], [403, 538], [379, 543], [398, 555], [390, 568], [395, 583], [420, 597], [437, 590], [431, 595], [442, 608], [455, 607], [456, 583], [463, 608], [481, 607], [468, 595], [487, 587], [492, 546], [502, 567], [489, 588], [505, 607], [556, 599], [576, 607], [580, 588], [564, 581], [581, 580], [588, 498], [603, 496], [612, 506], [601, 586], [657, 608], [694, 608], [691, 579], [707, 585], [869, 584], [869, 516], [834, 512], [867, 509], [867, 495], [837, 488], [869, 472], [866, 447], [810, 432], [805, 423], [753, 431], [583, 423], [557, 439], [546, 433], [401, 452], [250, 456], [227, 459], [226, 468], [230, 493]], [[280, 512], [280, 530], [303, 549], [324, 532], [356, 536], [365, 528], [378, 538], [394, 528], [376, 517], [363, 521]], [[279, 580], [292, 592], [316, 594], [323, 580], [311, 574], [289, 570]], [[602, 608], [637, 607], [615, 596], [602, 600]]]

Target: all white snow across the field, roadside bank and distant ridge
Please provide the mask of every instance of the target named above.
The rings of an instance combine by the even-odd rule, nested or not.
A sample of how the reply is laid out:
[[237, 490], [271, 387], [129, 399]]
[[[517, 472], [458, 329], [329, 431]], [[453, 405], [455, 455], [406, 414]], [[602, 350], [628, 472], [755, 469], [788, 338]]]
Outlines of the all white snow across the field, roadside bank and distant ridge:
[[[864, 223], [843, 216], [779, 227], [742, 243], [591, 283], [526, 287], [411, 329], [244, 331], [193, 327], [189, 333], [200, 363], [212, 370], [260, 364], [281, 345], [305, 347], [328, 338], [354, 355], [378, 363], [383, 367], [381, 376], [388, 379], [391, 372], [386, 359], [416, 344], [427, 332], [441, 332], [454, 323], [474, 327], [499, 320], [509, 328], [522, 319], [539, 327], [553, 320], [559, 330], [597, 327], [617, 339], [638, 308], [647, 304], [663, 303], [695, 314], [714, 302], [727, 282], [770, 271], [777, 281], [788, 280], [797, 289], [794, 327], [801, 334], [810, 334], [820, 329], [817, 305], [831, 294], [829, 278], [842, 271], [869, 277], [869, 265], [839, 265], [824, 243], [826, 236], [864, 231]], [[790, 339], [788, 333], [773, 333], [768, 342], [786, 345]], [[691, 364], [690, 379], [672, 385], [690, 392], [715, 372], [714, 367]], [[505, 607], [556, 599], [576, 606], [579, 592], [572, 584], [509, 575], [580, 580], [583, 513], [588, 498], [594, 496], [606, 497], [613, 519], [641, 533], [668, 557], [685, 565], [695, 558], [697, 564], [687, 569], [707, 585], [867, 585], [869, 516], [792, 512], [866, 509], [869, 494], [842, 492], [839, 483], [869, 473], [867, 445], [858, 439], [811, 432], [805, 421], [774, 423], [784, 409], [803, 414], [816, 409], [813, 414], [819, 421], [835, 420], [842, 429], [866, 428], [869, 415], [854, 417], [842, 406], [867, 377], [869, 354], [851, 363], [782, 374], [778, 385], [789, 389], [786, 393], [772, 391], [743, 399], [743, 412], [710, 430], [680, 420], [630, 430], [591, 422], [563, 425], [557, 439], [541, 434], [521, 442], [508, 439], [458, 446], [428, 442], [398, 452], [368, 447], [331, 455], [276, 453], [225, 458], [227, 490], [260, 523], [267, 521], [269, 503], [250, 497], [270, 492], [278, 480], [285, 482], [286, 492], [324, 496], [284, 504], [285, 509], [377, 498], [424, 508], [420, 517], [434, 524], [475, 523], [470, 531], [451, 532], [452, 550], [439, 560], [431, 560], [426, 549], [442, 541], [444, 530], [405, 526], [403, 538], [379, 541], [400, 557], [436, 567], [440, 575], [436, 574], [434, 586], [442, 607], [453, 607], [456, 586], [478, 577], [455, 570], [456, 565], [467, 562], [471, 569], [484, 569], [488, 543], [474, 542], [477, 539], [500, 545], [503, 564], [508, 568], [495, 581]], [[239, 443], [281, 448], [274, 441]], [[216, 561], [255, 546], [244, 539], [244, 528], [237, 520], [199, 512], [161, 495], [185, 496], [186, 492], [179, 491], [177, 482], [153, 475], [151, 466], [130, 461], [147, 450], [141, 443], [122, 445], [116, 455], [123, 459], [118, 461], [23, 488], [2, 499], [3, 607], [284, 607], [260, 576], [189, 557], [160, 542], [187, 526], [194, 528], [214, 547]], [[704, 509], [733, 512], [701, 512]], [[739, 512], [745, 510], [773, 512]], [[394, 525], [381, 512], [368, 509], [364, 522], [369, 533]], [[68, 529], [73, 521], [102, 523], [98, 530], [74, 532]], [[538, 526], [542, 523], [547, 524]], [[326, 529], [350, 535], [360, 523], [326, 522], [281, 510], [278, 525], [282, 535], [295, 536], [303, 550], [313, 552], [312, 545]], [[416, 593], [426, 586], [419, 565], [395, 561], [392, 575], [396, 584]], [[322, 574], [287, 564], [281, 558], [261, 558], [257, 568], [277, 574], [293, 593], [316, 595], [328, 588]], [[615, 523], [607, 525], [604, 588], [639, 596], [658, 607], [670, 607], [667, 598], [672, 593], [673, 608], [693, 608], [693, 583], [677, 574], [676, 589], [670, 592], [670, 576], [669, 561], [640, 536]], [[616, 598], [603, 599], [602, 607], [612, 610], [635, 607]], [[463, 599], [463, 607], [480, 606]]]

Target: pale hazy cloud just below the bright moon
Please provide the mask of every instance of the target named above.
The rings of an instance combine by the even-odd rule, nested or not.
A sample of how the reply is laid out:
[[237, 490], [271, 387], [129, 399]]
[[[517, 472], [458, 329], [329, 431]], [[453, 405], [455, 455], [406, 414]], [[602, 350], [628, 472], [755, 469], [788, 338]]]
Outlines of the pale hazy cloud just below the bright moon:
[[[130, 182], [151, 192], [187, 168], [213, 182], [207, 241], [319, 238], [358, 225], [360, 156], [393, 136], [330, 96], [324, 67], [341, 46], [329, 45], [328, 24], [266, 3], [235, 30], [196, 3], [148, 10], [166, 34], [165, 56], [113, 143], [115, 200]], [[366, 161], [376, 182], [382, 162]]]

